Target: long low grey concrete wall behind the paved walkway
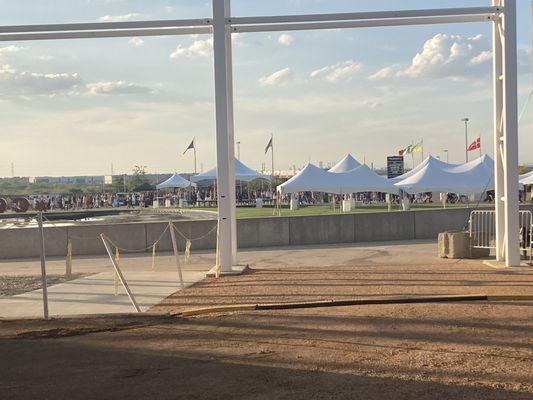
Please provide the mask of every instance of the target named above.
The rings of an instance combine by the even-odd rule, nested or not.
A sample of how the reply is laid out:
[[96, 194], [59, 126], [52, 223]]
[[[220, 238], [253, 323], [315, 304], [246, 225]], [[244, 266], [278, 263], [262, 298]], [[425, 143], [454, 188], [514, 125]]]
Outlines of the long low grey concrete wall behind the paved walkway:
[[[438, 233], [462, 229], [471, 209], [418, 210], [325, 216], [240, 219], [237, 223], [240, 248], [297, 246], [308, 244], [353, 243], [388, 240], [436, 239]], [[158, 238], [159, 251], [172, 250], [165, 222], [120, 223], [45, 228], [48, 256], [64, 256], [68, 239], [74, 255], [105, 254], [101, 233], [120, 247], [132, 251], [146, 249]], [[183, 236], [193, 239], [193, 249], [214, 249], [216, 222], [176, 221], [178, 247], [185, 248]], [[0, 229], [0, 259], [39, 256], [37, 229]]]

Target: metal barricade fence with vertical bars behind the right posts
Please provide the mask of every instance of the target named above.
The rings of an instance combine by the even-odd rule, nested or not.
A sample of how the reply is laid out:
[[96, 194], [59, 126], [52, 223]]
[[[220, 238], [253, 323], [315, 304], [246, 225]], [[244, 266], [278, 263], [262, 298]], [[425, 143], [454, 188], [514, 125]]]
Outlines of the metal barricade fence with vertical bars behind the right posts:
[[[519, 218], [520, 232], [517, 235], [517, 240], [520, 240], [521, 250], [529, 250], [533, 214], [531, 211], [519, 211]], [[475, 248], [496, 248], [496, 214], [494, 210], [476, 210], [470, 213], [470, 242]]]

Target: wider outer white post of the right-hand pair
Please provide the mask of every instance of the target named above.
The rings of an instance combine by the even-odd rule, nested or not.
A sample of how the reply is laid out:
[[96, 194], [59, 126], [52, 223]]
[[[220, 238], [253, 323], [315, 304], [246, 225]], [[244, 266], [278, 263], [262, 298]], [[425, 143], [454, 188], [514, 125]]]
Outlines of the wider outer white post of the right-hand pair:
[[518, 243], [518, 94], [516, 47], [516, 0], [504, 0], [503, 19], [503, 177], [505, 219], [505, 265], [520, 265]]

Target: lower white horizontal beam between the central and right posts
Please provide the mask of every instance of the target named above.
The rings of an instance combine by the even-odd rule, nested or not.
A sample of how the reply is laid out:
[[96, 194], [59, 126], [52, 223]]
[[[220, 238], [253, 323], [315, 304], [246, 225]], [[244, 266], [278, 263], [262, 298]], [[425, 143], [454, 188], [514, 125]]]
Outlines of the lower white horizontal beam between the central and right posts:
[[357, 21], [336, 21], [336, 22], [305, 22], [291, 24], [256, 24], [256, 25], [233, 25], [233, 32], [278, 32], [278, 31], [300, 31], [314, 29], [346, 29], [346, 28], [373, 28], [386, 26], [404, 25], [434, 25], [434, 24], [454, 24], [465, 22], [488, 22], [494, 19], [494, 14], [484, 15], [464, 15], [450, 17], [423, 17], [423, 18], [397, 18], [397, 19], [375, 19]]

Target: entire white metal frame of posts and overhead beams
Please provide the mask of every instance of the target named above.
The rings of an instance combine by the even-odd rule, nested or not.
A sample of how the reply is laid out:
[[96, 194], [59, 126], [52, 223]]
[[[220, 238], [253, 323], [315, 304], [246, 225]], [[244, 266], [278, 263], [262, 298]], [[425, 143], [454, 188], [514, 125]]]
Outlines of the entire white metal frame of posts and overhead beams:
[[232, 17], [231, 0], [212, 5], [213, 17], [203, 19], [3, 26], [0, 41], [213, 34], [218, 249], [220, 270], [227, 273], [237, 262], [232, 33], [492, 22], [497, 259], [519, 265], [516, 0], [492, 0], [487, 7], [261, 17]]

